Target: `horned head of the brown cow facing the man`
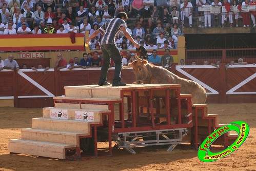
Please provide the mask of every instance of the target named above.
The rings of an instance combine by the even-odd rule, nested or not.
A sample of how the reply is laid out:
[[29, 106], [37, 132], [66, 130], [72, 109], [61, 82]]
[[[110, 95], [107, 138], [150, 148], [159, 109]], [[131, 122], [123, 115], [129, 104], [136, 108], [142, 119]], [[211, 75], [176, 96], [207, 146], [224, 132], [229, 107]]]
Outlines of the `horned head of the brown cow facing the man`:
[[135, 74], [136, 78], [136, 84], [145, 84], [146, 80], [149, 77], [149, 72], [147, 68], [148, 62], [146, 60], [142, 60], [138, 58], [137, 54], [135, 53], [135, 58], [137, 60], [133, 61], [132, 63], [129, 63], [128, 66], [123, 66], [123, 68], [133, 68], [133, 72]]

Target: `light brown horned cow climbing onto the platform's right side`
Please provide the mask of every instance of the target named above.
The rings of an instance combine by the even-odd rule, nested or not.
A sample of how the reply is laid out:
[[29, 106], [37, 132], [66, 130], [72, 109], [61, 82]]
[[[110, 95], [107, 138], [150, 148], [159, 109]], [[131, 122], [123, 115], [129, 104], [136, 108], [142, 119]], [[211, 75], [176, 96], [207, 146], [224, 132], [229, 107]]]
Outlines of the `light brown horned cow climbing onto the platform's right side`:
[[206, 91], [200, 84], [180, 78], [165, 68], [151, 65], [139, 58], [123, 68], [129, 67], [133, 68], [136, 84], [180, 84], [181, 93], [192, 94], [193, 104], [204, 104], [206, 101]]

